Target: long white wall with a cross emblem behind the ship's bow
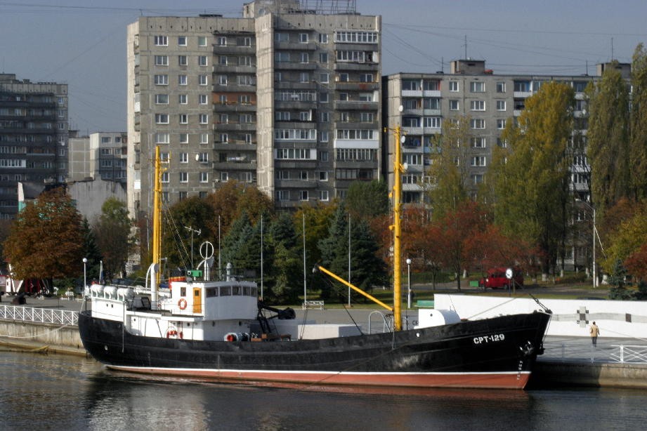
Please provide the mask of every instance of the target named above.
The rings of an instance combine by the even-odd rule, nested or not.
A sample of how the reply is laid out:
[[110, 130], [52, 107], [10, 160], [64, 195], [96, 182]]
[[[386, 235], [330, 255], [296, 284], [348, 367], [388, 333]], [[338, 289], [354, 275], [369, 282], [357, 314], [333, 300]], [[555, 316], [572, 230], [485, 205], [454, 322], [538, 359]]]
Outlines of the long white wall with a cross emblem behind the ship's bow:
[[[500, 314], [541, 310], [532, 298], [484, 296], [434, 296], [435, 307], [455, 310], [462, 319], [484, 319]], [[589, 324], [596, 321], [601, 337], [644, 338], [647, 333], [647, 303], [615, 300], [556, 300], [540, 302], [553, 312], [549, 336], [589, 336]]]

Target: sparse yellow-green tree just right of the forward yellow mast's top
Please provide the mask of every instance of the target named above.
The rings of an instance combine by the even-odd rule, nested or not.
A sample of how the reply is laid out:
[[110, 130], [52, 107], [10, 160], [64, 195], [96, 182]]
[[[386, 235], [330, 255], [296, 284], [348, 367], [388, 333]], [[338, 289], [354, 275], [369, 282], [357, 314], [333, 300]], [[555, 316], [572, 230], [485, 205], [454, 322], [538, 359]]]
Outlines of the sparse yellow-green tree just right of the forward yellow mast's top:
[[459, 203], [469, 197], [470, 121], [470, 117], [445, 121], [443, 134], [435, 140], [429, 168], [433, 181], [429, 194], [435, 219], [455, 211]]

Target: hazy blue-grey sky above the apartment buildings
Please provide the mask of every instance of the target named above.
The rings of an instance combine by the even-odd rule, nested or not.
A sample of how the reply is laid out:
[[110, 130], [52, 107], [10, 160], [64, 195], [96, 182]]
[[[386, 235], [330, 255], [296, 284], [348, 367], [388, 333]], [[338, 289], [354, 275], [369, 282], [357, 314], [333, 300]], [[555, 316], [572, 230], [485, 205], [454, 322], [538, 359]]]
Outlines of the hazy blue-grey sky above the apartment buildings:
[[[303, 1], [303, 0], [302, 0]], [[316, 0], [305, 0], [308, 5]], [[339, 1], [339, 0], [338, 0]], [[242, 16], [242, 0], [0, 0], [0, 72], [68, 84], [70, 128], [126, 130], [126, 26], [138, 16]], [[647, 1], [355, 0], [382, 17], [382, 73], [595, 74], [647, 43]]]

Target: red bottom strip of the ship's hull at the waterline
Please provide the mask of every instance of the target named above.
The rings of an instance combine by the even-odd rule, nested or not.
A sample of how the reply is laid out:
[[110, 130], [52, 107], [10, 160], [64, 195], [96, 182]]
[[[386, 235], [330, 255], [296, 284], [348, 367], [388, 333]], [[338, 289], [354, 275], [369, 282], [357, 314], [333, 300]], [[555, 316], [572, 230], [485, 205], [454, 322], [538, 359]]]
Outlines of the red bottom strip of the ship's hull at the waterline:
[[324, 385], [364, 387], [465, 387], [523, 389], [530, 372], [488, 373], [344, 373], [325, 371], [249, 371], [214, 369], [167, 369], [136, 366], [108, 366], [110, 369], [156, 376], [216, 380], [227, 383], [263, 385]]

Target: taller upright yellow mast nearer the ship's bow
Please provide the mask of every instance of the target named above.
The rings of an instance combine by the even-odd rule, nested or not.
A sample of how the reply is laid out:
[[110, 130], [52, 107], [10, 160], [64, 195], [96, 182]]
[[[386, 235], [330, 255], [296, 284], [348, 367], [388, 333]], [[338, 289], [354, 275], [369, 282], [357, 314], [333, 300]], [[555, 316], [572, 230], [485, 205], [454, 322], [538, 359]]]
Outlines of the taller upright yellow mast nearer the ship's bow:
[[393, 144], [393, 330], [402, 330], [402, 257], [400, 256], [400, 234], [402, 227], [402, 154], [400, 146], [400, 126], [393, 129], [395, 142]]

